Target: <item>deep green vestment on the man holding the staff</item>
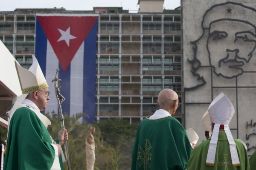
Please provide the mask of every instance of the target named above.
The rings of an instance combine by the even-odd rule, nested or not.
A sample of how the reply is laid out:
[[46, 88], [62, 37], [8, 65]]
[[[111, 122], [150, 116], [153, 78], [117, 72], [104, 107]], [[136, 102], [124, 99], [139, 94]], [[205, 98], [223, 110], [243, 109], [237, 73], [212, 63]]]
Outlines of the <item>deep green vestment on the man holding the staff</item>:
[[15, 111], [9, 134], [3, 170], [49, 170], [55, 150], [47, 128], [29, 108]]

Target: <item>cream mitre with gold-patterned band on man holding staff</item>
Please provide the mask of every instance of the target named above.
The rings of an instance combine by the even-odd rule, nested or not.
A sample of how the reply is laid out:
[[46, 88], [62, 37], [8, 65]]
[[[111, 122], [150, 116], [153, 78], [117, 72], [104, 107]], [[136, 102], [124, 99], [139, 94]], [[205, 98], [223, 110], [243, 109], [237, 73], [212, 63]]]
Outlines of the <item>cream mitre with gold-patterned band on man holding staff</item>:
[[32, 56], [33, 63], [30, 66], [29, 70], [21, 67], [19, 63], [15, 60], [15, 67], [19, 77], [20, 88], [22, 91], [22, 95], [18, 97], [16, 102], [14, 103], [12, 110], [9, 115], [9, 120], [12, 118], [13, 113], [19, 107], [19, 105], [23, 102], [26, 96], [33, 92], [39, 91], [43, 88], [48, 87], [46, 79], [44, 78], [44, 74], [38, 64], [38, 60], [35, 56]]

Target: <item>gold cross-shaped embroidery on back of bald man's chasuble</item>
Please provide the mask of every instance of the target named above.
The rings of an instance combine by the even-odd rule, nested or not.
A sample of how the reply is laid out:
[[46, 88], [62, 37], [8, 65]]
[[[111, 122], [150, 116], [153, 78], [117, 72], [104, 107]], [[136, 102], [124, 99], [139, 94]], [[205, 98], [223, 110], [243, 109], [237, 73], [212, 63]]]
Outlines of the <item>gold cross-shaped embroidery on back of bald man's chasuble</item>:
[[145, 150], [143, 150], [143, 148], [140, 146], [140, 151], [138, 152], [137, 159], [141, 160], [139, 163], [139, 166], [141, 167], [142, 165], [144, 165], [144, 170], [147, 170], [147, 167], [150, 167], [150, 160], [151, 160], [152, 153], [149, 151], [151, 149], [152, 149], [151, 143], [149, 142], [148, 139], [146, 139]]

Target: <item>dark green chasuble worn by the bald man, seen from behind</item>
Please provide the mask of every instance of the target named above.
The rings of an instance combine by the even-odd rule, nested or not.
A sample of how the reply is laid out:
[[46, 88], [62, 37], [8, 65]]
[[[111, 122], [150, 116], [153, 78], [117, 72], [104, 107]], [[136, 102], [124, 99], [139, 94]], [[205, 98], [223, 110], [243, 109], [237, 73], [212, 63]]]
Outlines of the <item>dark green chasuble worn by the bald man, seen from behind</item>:
[[143, 119], [135, 137], [131, 170], [186, 170], [191, 149], [177, 119]]

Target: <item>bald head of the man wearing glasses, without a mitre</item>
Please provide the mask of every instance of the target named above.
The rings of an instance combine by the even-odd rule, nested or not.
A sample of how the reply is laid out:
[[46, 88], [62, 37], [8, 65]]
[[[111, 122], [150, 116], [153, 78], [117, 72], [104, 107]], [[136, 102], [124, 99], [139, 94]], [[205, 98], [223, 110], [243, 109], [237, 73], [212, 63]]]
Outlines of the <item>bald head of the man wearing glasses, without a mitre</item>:
[[158, 94], [157, 105], [160, 109], [168, 111], [173, 116], [177, 110], [178, 101], [179, 97], [177, 93], [171, 89], [166, 88], [160, 91]]

